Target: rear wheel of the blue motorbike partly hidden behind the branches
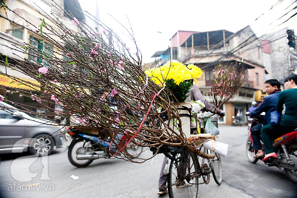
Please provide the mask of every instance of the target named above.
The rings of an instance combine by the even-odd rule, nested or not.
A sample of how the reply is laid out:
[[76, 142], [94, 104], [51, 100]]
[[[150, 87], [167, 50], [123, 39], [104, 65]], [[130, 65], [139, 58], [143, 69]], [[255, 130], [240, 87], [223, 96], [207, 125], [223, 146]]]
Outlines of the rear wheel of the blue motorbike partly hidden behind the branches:
[[68, 149], [68, 159], [70, 163], [78, 168], [87, 167], [92, 163], [93, 159], [77, 159], [78, 154], [84, 154], [85, 152], [94, 150], [92, 145], [86, 147], [86, 142], [81, 139], [77, 139]]

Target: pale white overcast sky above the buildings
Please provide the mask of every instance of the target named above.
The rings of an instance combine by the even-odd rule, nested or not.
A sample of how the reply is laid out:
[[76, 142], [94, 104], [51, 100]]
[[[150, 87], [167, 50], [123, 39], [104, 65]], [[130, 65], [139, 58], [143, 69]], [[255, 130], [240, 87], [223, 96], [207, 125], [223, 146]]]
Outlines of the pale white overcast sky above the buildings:
[[[281, 0], [277, 4], [279, 1], [79, 0], [82, 9], [94, 15], [98, 4], [99, 19], [127, 41], [127, 45], [132, 43], [116, 20], [127, 29], [132, 28], [144, 63], [153, 60], [150, 57], [154, 52], [167, 49], [170, 38], [178, 30], [205, 32], [225, 29], [235, 33], [249, 25], [258, 37], [285, 27], [297, 32], [297, 16], [280, 25], [297, 12], [293, 10], [283, 16], [297, 3], [293, 3], [295, 0]], [[128, 47], [132, 53], [136, 49]]]

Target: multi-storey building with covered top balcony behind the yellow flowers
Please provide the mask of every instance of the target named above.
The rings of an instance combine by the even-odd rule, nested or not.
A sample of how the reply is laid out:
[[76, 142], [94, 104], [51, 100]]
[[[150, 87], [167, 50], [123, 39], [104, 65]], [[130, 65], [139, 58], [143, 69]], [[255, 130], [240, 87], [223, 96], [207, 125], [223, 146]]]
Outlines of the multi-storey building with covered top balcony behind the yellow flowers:
[[[187, 36], [181, 33], [188, 34]], [[265, 68], [263, 65], [263, 47], [252, 29], [247, 26], [233, 33], [227, 30], [209, 32], [178, 31], [171, 38], [172, 61], [195, 64], [203, 70], [203, 76], [196, 84], [206, 99], [213, 84], [213, 71], [220, 65], [241, 65], [248, 76], [246, 83], [238, 90], [234, 99], [223, 105], [226, 116], [219, 122], [232, 123], [232, 116], [241, 115], [247, 122], [245, 112], [251, 102], [260, 102], [265, 93]], [[173, 45], [174, 44], [174, 45]]]

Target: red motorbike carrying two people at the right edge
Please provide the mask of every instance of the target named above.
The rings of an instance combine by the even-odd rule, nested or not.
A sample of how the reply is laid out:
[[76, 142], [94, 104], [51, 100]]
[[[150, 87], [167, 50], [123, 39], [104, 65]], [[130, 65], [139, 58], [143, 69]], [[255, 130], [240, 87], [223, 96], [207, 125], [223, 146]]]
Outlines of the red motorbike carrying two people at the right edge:
[[[251, 128], [256, 124], [261, 123], [257, 118], [253, 118], [253, 122], [248, 130], [247, 138], [247, 158], [251, 163], [256, 163], [262, 157], [254, 158], [253, 139], [251, 136]], [[264, 151], [263, 142], [261, 142], [262, 150]], [[297, 183], [297, 129], [287, 134], [284, 134], [273, 141], [273, 147], [278, 154], [277, 158], [269, 158], [264, 163], [268, 166], [275, 166], [284, 169], [287, 176]]]

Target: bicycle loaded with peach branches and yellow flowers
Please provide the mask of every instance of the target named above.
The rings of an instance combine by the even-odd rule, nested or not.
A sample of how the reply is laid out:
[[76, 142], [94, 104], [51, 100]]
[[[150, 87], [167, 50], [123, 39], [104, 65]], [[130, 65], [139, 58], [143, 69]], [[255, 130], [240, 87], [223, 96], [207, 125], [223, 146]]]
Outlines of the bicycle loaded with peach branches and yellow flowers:
[[[206, 159], [187, 148], [165, 147], [163, 149], [162, 152], [170, 160], [167, 176], [169, 198], [197, 198], [198, 185], [208, 184], [210, 173], [218, 185], [222, 183], [222, 162], [219, 154], [200, 147], [203, 153], [214, 155], [214, 158]], [[199, 183], [201, 177], [203, 182]]]

